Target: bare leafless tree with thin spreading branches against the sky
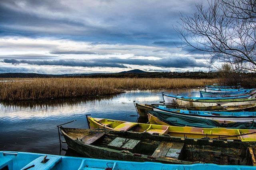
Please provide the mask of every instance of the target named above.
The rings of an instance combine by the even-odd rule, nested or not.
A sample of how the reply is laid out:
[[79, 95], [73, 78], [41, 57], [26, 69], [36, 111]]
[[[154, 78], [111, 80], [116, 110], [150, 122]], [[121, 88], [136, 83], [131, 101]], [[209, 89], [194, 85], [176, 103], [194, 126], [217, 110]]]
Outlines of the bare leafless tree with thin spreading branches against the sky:
[[176, 31], [184, 45], [204, 51], [205, 58], [232, 64], [233, 71], [256, 71], [256, 0], [208, 1], [192, 16], [180, 15]]

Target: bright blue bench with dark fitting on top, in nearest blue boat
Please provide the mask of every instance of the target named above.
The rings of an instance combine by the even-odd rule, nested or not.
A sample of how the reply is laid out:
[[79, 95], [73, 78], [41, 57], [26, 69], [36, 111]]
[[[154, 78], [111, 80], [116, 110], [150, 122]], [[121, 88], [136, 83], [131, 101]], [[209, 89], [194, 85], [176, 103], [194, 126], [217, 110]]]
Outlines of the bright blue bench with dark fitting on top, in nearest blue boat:
[[22, 168], [26, 169], [29, 168], [29, 170], [50, 170], [53, 168], [58, 162], [60, 162], [62, 158], [57, 156], [47, 156], [45, 163], [42, 161], [44, 160], [44, 156], [40, 156], [39, 158], [36, 158], [26, 166]]

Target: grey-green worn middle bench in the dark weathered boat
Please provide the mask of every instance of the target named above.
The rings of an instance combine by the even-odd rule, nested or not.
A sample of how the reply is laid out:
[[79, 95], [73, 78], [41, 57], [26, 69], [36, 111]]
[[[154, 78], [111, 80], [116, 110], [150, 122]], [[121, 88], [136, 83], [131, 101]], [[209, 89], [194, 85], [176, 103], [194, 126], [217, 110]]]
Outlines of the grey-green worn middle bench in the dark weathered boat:
[[134, 152], [136, 148], [139, 146], [139, 143], [140, 140], [116, 137], [114, 140], [112, 140], [112, 142], [108, 144], [108, 147], [117, 150], [121, 149]]

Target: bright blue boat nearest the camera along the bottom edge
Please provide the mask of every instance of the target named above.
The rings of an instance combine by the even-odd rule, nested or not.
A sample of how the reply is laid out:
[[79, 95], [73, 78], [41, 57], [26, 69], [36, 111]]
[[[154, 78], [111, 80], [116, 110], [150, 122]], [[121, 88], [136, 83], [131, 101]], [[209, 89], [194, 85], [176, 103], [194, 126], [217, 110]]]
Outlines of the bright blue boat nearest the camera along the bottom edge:
[[128, 162], [0, 151], [0, 170], [255, 170], [255, 166]]

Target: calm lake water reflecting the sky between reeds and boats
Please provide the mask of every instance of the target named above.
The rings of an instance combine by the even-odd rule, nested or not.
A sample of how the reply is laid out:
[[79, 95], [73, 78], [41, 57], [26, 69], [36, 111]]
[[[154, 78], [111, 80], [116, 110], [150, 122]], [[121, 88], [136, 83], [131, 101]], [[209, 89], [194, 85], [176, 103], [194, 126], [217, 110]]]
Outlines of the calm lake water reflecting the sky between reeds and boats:
[[[165, 91], [200, 96], [200, 89]], [[0, 103], [0, 150], [60, 154], [56, 125], [77, 120], [64, 127], [88, 128], [86, 114], [92, 117], [138, 121], [136, 103], [159, 103], [162, 91], [128, 91], [114, 96], [48, 99]], [[64, 140], [64, 139], [62, 139]], [[62, 144], [67, 148], [66, 144]], [[62, 155], [79, 156], [68, 150]]]

